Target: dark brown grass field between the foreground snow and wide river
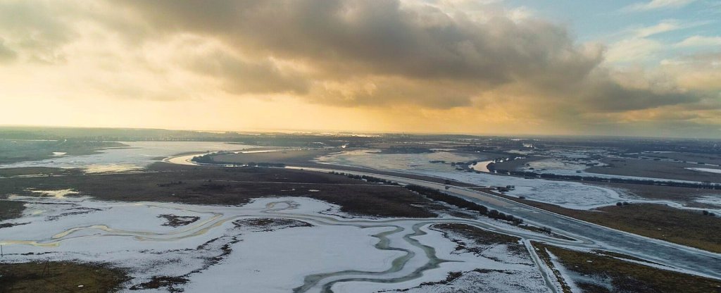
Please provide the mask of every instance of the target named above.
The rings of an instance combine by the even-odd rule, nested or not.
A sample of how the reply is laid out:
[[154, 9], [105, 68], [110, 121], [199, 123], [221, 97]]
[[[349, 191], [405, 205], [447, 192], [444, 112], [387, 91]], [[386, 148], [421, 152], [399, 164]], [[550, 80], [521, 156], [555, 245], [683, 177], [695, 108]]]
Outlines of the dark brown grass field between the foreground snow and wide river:
[[321, 172], [260, 167], [194, 167], [158, 164], [154, 172], [5, 178], [0, 196], [31, 195], [28, 188], [72, 188], [106, 201], [246, 204], [252, 198], [306, 196], [338, 204], [342, 211], [376, 217], [437, 217], [433, 204], [405, 188], [367, 183]]

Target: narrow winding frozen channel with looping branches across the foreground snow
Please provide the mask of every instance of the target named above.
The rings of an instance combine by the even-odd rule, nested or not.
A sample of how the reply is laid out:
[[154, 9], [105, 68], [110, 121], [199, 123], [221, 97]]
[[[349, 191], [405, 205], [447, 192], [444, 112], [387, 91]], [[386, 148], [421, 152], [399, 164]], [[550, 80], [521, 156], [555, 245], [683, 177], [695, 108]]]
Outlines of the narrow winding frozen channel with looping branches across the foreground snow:
[[[580, 240], [561, 240], [532, 232], [509, 227], [497, 226], [491, 222], [454, 217], [437, 219], [344, 219], [322, 214], [304, 214], [293, 211], [298, 204], [293, 201], [273, 201], [262, 209], [224, 206], [190, 206], [182, 204], [164, 204], [143, 202], [139, 204], [114, 203], [115, 206], [133, 205], [149, 208], [174, 209], [183, 214], [205, 214], [205, 218], [167, 232], [150, 232], [143, 230], [116, 229], [112, 224], [94, 224], [84, 227], [72, 227], [56, 232], [43, 240], [0, 240], [1, 245], [32, 245], [36, 247], [57, 247], [69, 240], [82, 240], [89, 237], [133, 237], [137, 241], [178, 241], [188, 237], [198, 237], [211, 231], [223, 229], [227, 222], [236, 219], [275, 218], [293, 219], [316, 226], [348, 226], [358, 228], [381, 228], [373, 237], [379, 241], [374, 247], [377, 250], [394, 250], [402, 255], [394, 258], [389, 268], [383, 271], [329, 271], [322, 274], [311, 274], [304, 278], [304, 284], [293, 289], [293, 292], [332, 292], [334, 284], [347, 281], [367, 281], [379, 283], [399, 283], [418, 279], [425, 271], [438, 268], [441, 263], [450, 262], [438, 258], [435, 248], [423, 244], [415, 237], [425, 235], [430, 225], [441, 223], [469, 224], [482, 229], [490, 229], [508, 235], [516, 235], [524, 240], [539, 240], [562, 245], [578, 245]], [[289, 212], [293, 211], [293, 212]], [[588, 243], [588, 242], [586, 242]]]

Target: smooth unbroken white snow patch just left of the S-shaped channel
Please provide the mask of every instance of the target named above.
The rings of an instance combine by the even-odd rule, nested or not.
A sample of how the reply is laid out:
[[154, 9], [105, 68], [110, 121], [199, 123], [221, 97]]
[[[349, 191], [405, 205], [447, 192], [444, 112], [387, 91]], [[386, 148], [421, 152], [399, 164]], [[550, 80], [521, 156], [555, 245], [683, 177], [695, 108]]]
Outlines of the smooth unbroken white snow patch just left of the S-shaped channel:
[[[313, 227], [258, 232], [234, 253], [193, 276], [187, 292], [290, 292], [304, 276], [330, 271], [384, 271], [402, 253], [373, 248], [378, 228]], [[238, 280], [238, 281], [234, 281]]]

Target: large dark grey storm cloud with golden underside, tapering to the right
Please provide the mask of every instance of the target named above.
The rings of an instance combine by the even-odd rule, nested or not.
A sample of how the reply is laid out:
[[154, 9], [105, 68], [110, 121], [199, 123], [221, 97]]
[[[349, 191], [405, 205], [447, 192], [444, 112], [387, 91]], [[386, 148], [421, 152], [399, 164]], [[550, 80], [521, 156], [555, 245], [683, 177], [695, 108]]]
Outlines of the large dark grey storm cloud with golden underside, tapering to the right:
[[[306, 95], [313, 102], [409, 102], [449, 108], [471, 105], [479, 93], [508, 84], [522, 93], [541, 93], [538, 99], [575, 105], [581, 112], [637, 110], [698, 100], [679, 92], [627, 89], [607, 76], [592, 76], [603, 61], [601, 48], [577, 45], [565, 27], [540, 19], [518, 22], [496, 13], [479, 22], [464, 14], [449, 15], [433, 6], [394, 0], [122, 3], [157, 30], [212, 35], [247, 56], [309, 64], [315, 70], [306, 79], [351, 84], [371, 79], [376, 86], [373, 91], [344, 94], [316, 89], [311, 91], [314, 95]], [[254, 70], [251, 66], [219, 71], [229, 76], [229, 84], [239, 81], [242, 91], [253, 87], [247, 75], [255, 75], [249, 73]], [[253, 80], [261, 89], [273, 88], [270, 81]], [[305, 82], [290, 81], [275, 79], [285, 84], [280, 87], [306, 92]]]

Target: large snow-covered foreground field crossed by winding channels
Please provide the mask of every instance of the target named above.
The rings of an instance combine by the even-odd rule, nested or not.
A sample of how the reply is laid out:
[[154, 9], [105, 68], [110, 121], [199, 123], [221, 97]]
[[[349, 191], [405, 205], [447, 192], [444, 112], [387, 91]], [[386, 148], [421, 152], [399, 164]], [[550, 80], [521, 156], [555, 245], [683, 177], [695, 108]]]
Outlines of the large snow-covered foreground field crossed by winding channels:
[[330, 287], [334, 292], [415, 287], [412, 292], [438, 292], [420, 285], [445, 280], [451, 271], [474, 270], [480, 271], [454, 286], [483, 279], [502, 291], [521, 285], [528, 292], [548, 291], [528, 255], [510, 253], [503, 245], [480, 255], [459, 252], [454, 242], [430, 229], [435, 223], [461, 222], [547, 239], [490, 219], [348, 218], [337, 206], [311, 198], [262, 198], [244, 206], [74, 196], [10, 199], [27, 204], [21, 218], [0, 222], [15, 224], [0, 229], [4, 262], [110, 263], [128, 269], [132, 279], [125, 289], [140, 292], [167, 292], [167, 287], [146, 288], [163, 276], [187, 279], [172, 285], [185, 292], [322, 292]]

